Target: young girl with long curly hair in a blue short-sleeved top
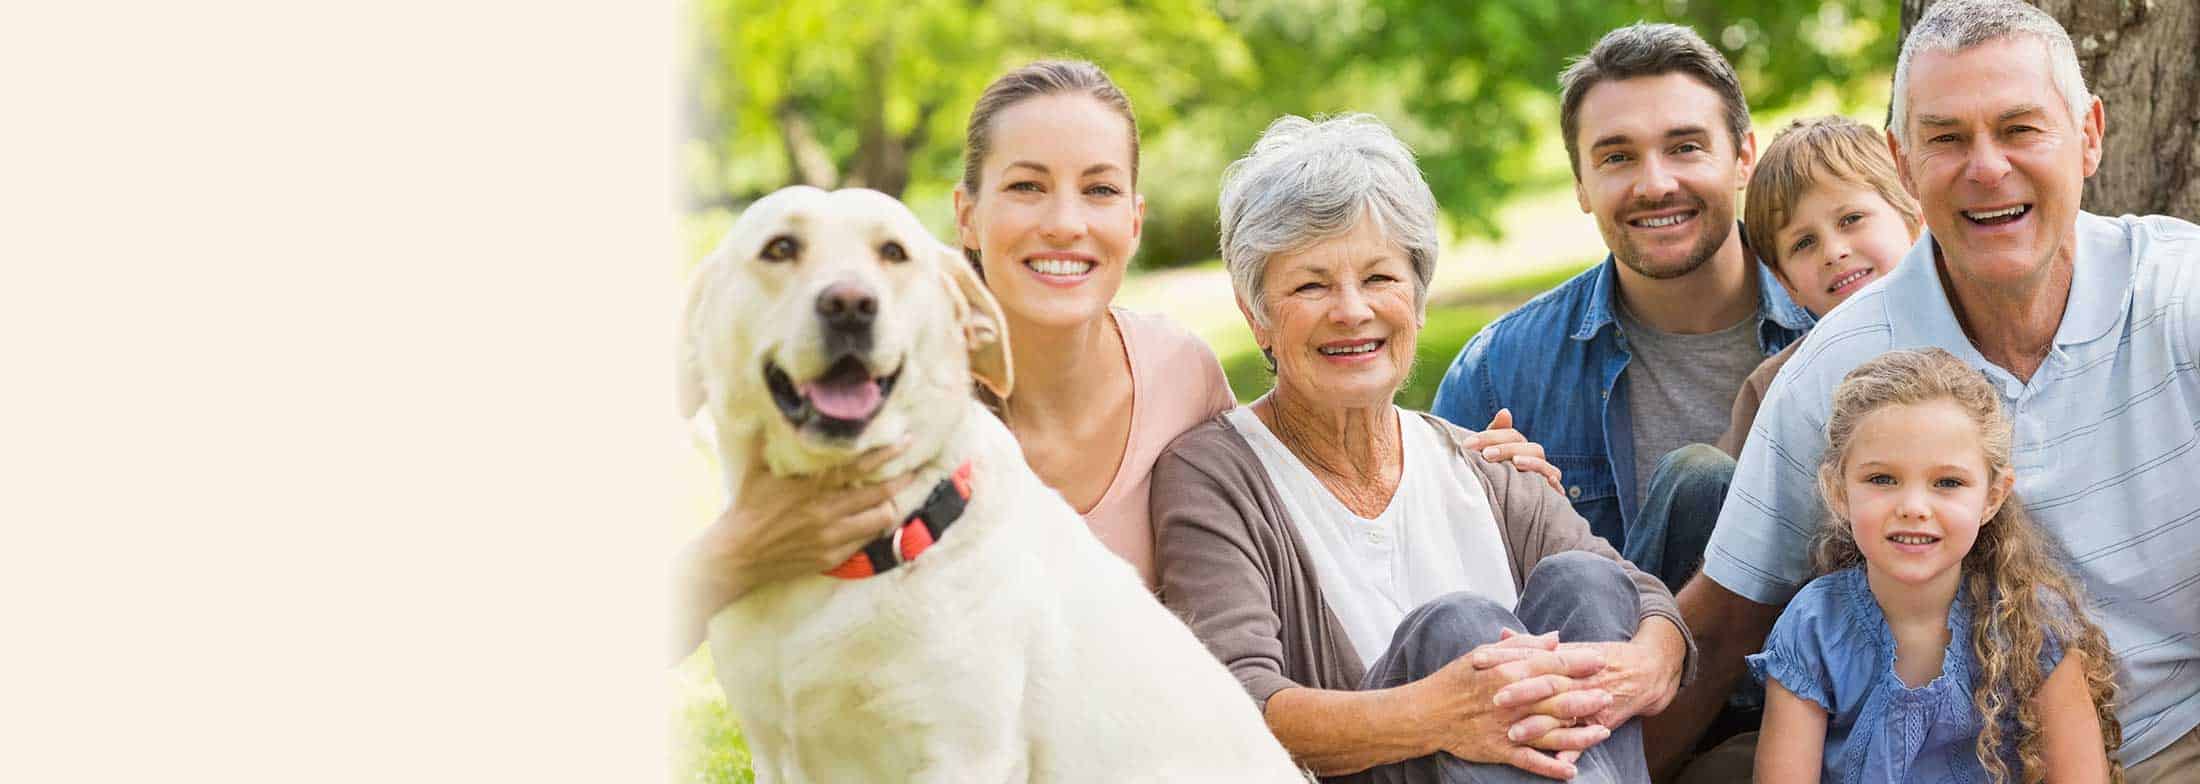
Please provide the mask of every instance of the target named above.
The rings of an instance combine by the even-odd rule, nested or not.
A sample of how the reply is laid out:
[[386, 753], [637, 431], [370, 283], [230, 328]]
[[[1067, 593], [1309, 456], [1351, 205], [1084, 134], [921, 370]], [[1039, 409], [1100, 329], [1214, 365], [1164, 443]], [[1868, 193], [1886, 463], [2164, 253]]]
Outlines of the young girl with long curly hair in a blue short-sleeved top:
[[2009, 418], [1954, 355], [1833, 396], [1813, 579], [1749, 669], [1758, 782], [2121, 782], [2108, 641], [2011, 498]]

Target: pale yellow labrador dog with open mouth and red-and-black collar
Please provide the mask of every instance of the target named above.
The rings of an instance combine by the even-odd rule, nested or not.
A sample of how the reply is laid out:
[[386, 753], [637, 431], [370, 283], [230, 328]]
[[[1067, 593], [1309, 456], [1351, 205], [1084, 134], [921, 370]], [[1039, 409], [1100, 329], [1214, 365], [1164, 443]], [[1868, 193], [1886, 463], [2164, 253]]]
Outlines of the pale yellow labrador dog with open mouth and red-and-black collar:
[[[1041, 484], [970, 379], [1005, 394], [1001, 311], [898, 200], [757, 200], [689, 295], [682, 407], [748, 460], [917, 480], [909, 522], [832, 575], [711, 619], [759, 782], [1302, 782], [1252, 700]], [[761, 445], [761, 454], [750, 454]], [[741, 489], [733, 487], [735, 502]]]

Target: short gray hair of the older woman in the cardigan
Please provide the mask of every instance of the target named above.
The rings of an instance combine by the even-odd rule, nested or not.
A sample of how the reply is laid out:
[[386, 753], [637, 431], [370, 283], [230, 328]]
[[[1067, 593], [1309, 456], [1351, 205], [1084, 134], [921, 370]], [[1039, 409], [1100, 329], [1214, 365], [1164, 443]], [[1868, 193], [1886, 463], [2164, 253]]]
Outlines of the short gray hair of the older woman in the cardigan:
[[1375, 115], [1311, 121], [1285, 115], [1223, 170], [1221, 249], [1230, 286], [1267, 326], [1267, 260], [1342, 236], [1373, 218], [1412, 262], [1412, 308], [1428, 311], [1437, 273], [1437, 196], [1412, 150]]

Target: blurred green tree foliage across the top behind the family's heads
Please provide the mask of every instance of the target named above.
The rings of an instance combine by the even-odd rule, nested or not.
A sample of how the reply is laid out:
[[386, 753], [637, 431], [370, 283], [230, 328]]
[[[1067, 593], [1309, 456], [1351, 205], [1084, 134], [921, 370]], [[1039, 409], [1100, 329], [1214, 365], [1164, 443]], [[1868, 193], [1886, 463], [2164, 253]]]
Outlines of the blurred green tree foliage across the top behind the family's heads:
[[777, 187], [876, 187], [946, 236], [970, 104], [1038, 57], [1107, 68], [1146, 145], [1148, 266], [1214, 255], [1221, 167], [1274, 117], [1375, 112], [1419, 152], [1459, 233], [1496, 236], [1520, 187], [1564, 183], [1558, 73], [1637, 20], [1701, 31], [1758, 108], [1830, 86], [1870, 92], [1894, 59], [1896, 0], [702, 0], [693, 42], [691, 205]]

